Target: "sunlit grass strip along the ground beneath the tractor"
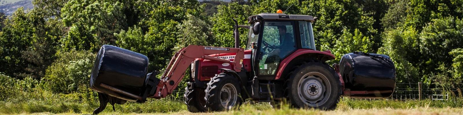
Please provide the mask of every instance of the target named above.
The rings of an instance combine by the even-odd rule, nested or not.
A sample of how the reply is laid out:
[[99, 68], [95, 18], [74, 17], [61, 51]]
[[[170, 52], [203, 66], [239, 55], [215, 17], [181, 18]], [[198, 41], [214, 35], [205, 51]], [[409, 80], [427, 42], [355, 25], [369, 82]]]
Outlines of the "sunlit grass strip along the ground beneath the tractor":
[[[97, 103], [84, 104], [75, 102], [50, 102], [31, 100], [28, 103], [16, 104], [3, 102], [0, 104], [0, 114], [17, 115], [81, 115], [91, 114]], [[151, 100], [144, 104], [128, 103], [116, 105], [113, 111], [111, 105], [100, 115], [463, 115], [463, 101], [454, 98], [446, 101], [390, 99], [356, 100], [342, 98], [337, 109], [320, 111], [315, 109], [272, 109], [267, 103], [243, 104], [239, 110], [213, 113], [190, 113], [186, 105], [179, 101], [168, 99]]]

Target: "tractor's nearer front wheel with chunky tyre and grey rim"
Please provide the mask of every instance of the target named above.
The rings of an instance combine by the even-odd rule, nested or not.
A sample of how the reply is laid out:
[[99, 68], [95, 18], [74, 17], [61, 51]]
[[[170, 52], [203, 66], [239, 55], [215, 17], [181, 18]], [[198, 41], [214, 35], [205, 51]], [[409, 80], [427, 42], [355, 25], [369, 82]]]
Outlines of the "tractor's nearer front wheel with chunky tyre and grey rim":
[[207, 83], [205, 92], [204, 99], [209, 111], [230, 110], [241, 105], [241, 88], [238, 79], [232, 75], [216, 75]]

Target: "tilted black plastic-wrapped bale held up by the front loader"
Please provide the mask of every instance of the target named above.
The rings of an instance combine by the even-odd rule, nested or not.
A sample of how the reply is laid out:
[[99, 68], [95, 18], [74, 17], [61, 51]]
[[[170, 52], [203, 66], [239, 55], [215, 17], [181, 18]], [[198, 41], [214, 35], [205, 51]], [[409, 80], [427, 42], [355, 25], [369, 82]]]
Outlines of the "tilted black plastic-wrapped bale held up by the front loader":
[[145, 92], [147, 71], [148, 57], [116, 46], [104, 45], [95, 59], [90, 88], [124, 100], [139, 100], [120, 91], [142, 96]]

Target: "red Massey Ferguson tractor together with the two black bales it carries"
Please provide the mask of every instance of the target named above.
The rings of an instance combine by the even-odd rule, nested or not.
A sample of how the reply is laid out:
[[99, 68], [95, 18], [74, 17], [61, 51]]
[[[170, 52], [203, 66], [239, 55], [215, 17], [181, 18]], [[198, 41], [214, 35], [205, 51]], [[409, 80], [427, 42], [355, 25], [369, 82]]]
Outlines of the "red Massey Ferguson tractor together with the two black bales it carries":
[[[116, 46], [104, 45], [92, 70], [90, 87], [99, 92], [100, 107], [143, 103], [165, 98], [190, 67], [185, 104], [191, 112], [238, 108], [246, 99], [277, 106], [286, 100], [295, 108], [334, 109], [339, 97], [387, 98], [394, 91], [394, 64], [386, 55], [354, 52], [340, 64], [317, 51], [312, 24], [316, 17], [261, 13], [235, 19], [235, 47], [190, 45], [170, 60], [166, 69], [148, 73], [148, 58]], [[238, 28], [249, 29], [246, 47], [239, 46]], [[157, 74], [162, 74], [157, 78]]]

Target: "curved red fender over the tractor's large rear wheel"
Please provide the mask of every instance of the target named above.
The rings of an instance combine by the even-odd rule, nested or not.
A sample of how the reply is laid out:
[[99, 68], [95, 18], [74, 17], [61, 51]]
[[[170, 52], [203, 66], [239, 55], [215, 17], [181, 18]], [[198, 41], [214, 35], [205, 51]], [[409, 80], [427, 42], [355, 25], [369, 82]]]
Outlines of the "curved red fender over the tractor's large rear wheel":
[[310, 49], [296, 50], [296, 52], [292, 53], [291, 55], [289, 55], [288, 57], [286, 57], [285, 59], [282, 60], [282, 62], [280, 63], [280, 66], [278, 66], [278, 71], [276, 73], [275, 80], [280, 79], [280, 77], [282, 76], [283, 70], [285, 70], [285, 68], [286, 68], [286, 66], [288, 65], [289, 62], [291, 62], [294, 58], [296, 58], [296, 57], [298, 57], [298, 56], [300, 56], [302, 54], [306, 54], [306, 53], [323, 54], [323, 55], [326, 55], [327, 57], [329, 57], [330, 60], [335, 58], [333, 54], [328, 53], [328, 52], [322, 52], [322, 51], [316, 51], [316, 50], [310, 50]]

